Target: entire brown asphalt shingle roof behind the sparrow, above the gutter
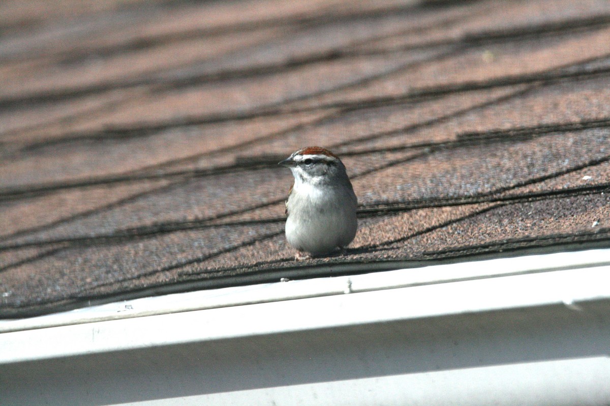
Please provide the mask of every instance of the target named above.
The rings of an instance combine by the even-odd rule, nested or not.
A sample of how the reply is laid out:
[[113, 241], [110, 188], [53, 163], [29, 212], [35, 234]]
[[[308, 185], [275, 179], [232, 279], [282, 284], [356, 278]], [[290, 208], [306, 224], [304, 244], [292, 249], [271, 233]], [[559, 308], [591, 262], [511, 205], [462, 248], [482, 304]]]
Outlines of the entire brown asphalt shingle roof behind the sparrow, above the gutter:
[[[0, 31], [0, 317], [610, 242], [606, 0], [8, 0]], [[359, 231], [295, 262], [307, 145]]]

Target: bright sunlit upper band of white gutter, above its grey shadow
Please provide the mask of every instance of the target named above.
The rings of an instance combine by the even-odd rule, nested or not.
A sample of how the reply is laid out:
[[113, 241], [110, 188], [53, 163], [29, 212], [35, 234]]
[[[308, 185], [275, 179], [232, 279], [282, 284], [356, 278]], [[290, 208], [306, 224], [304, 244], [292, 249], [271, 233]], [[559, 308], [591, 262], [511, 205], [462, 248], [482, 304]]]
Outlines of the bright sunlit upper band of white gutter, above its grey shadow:
[[0, 363], [501, 309], [559, 304], [578, 310], [587, 301], [610, 301], [609, 254], [591, 250], [277, 282], [2, 321]]

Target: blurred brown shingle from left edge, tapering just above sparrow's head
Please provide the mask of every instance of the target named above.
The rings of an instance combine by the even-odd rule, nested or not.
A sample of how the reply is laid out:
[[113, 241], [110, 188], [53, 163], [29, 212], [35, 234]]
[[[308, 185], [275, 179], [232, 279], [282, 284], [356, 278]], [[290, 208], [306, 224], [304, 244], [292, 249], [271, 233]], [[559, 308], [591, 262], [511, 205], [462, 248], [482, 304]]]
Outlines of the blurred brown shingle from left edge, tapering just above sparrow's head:
[[[172, 167], [193, 156], [203, 156], [209, 166], [222, 166], [234, 156], [215, 156], [215, 151], [237, 144], [247, 145], [314, 120], [318, 114], [303, 113], [289, 117], [262, 117], [252, 121], [178, 126], [151, 131], [134, 130], [107, 133], [85, 132], [31, 142], [13, 152], [10, 161], [2, 164], [2, 186], [22, 187], [27, 184], [59, 183], [61, 181], [99, 180], [128, 175], [148, 169], [157, 173], [160, 166]], [[10, 147], [9, 147], [10, 148]], [[174, 167], [174, 169], [177, 169]], [[91, 180], [91, 179], [90, 179]], [[91, 181], [93, 181], [91, 180]]]

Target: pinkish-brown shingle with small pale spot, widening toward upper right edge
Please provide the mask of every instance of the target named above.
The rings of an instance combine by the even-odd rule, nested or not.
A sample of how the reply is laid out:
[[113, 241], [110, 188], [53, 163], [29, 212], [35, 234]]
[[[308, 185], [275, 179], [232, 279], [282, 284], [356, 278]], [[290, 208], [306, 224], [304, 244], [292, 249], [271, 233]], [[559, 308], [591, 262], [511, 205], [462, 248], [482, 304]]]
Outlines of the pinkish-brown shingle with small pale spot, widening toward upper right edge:
[[[592, 58], [608, 56], [610, 30], [573, 33], [567, 37], [502, 43], [487, 47], [458, 46], [429, 63], [371, 80], [354, 89], [314, 97], [298, 105], [332, 105], [379, 97], [408, 97], [410, 94], [468, 90], [477, 86], [528, 83], [536, 75], [553, 69], [583, 64]], [[443, 55], [443, 54], [440, 54]], [[515, 63], [515, 61], [519, 63]]]

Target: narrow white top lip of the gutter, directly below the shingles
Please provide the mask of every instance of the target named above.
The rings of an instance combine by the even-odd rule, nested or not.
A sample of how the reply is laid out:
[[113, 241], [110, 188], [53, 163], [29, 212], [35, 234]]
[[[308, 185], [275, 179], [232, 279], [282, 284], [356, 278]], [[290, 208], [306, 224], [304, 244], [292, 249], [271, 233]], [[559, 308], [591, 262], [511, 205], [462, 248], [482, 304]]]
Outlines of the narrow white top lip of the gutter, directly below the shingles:
[[604, 248], [456, 262], [352, 276], [287, 281], [282, 278], [279, 282], [170, 293], [32, 318], [0, 320], [0, 341], [2, 334], [9, 332], [609, 265], [610, 248]]

